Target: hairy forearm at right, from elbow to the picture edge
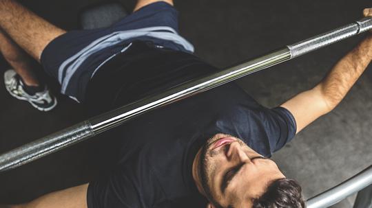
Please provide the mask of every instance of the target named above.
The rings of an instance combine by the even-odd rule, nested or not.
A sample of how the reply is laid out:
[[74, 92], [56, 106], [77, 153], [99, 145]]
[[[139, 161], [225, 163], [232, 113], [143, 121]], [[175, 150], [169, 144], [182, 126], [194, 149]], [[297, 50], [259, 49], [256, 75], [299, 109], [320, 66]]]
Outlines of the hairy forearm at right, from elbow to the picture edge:
[[316, 86], [331, 111], [345, 97], [372, 60], [372, 35], [349, 52]]

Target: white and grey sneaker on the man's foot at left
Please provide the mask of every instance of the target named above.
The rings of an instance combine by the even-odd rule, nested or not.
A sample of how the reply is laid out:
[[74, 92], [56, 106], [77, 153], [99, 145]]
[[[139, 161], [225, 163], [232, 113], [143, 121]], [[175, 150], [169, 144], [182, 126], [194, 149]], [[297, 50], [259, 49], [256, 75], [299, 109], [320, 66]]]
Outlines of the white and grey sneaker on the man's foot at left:
[[30, 102], [39, 111], [50, 111], [57, 104], [56, 97], [50, 93], [47, 86], [45, 86], [43, 91], [34, 95], [26, 93], [23, 89], [24, 84], [21, 78], [13, 69], [9, 69], [4, 73], [4, 82], [10, 95], [19, 100]]

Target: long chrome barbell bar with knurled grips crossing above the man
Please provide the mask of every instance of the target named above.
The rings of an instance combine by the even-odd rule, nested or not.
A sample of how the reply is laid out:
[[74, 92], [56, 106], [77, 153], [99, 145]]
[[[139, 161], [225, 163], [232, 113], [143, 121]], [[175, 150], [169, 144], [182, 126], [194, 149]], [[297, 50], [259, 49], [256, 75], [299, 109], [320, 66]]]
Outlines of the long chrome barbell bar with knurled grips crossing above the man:
[[214, 73], [211, 76], [206, 76], [205, 78], [177, 86], [174, 89], [165, 91], [165, 93], [147, 97], [138, 102], [134, 102], [133, 104], [117, 108], [114, 111], [103, 113], [102, 115], [93, 117], [92, 119], [87, 119], [70, 128], [65, 128], [64, 130], [52, 135], [32, 141], [31, 143], [0, 155], [0, 172], [10, 170], [14, 167], [19, 167], [20, 165], [29, 163], [30, 161], [34, 161], [68, 146], [72, 146], [160, 106], [165, 106], [197, 93], [207, 91], [216, 86], [242, 78], [243, 76], [247, 76], [256, 71], [267, 69], [273, 65], [278, 65], [281, 62], [302, 56], [310, 51], [314, 51], [371, 29], [372, 18], [364, 18], [360, 21], [355, 21], [355, 23], [320, 34], [305, 41], [300, 41], [293, 45], [287, 45], [278, 51], [273, 51], [272, 53], [261, 56], [260, 58]]

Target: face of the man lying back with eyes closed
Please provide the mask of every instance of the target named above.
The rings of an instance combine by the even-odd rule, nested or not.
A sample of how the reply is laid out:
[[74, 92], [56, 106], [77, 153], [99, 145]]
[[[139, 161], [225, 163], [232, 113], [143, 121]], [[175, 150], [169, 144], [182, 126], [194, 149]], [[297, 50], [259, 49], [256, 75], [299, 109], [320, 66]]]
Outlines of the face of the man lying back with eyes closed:
[[218, 134], [198, 152], [193, 176], [199, 191], [214, 207], [251, 207], [266, 187], [285, 176], [242, 140]]

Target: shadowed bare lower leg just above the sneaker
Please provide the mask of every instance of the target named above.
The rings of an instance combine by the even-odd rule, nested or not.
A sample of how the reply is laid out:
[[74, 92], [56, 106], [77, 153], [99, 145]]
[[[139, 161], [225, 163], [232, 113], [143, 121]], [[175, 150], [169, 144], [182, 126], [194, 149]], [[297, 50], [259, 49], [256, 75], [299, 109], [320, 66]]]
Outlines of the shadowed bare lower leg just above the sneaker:
[[14, 43], [9, 36], [0, 29], [0, 54], [13, 67], [23, 82], [28, 86], [39, 86], [39, 80], [32, 71], [31, 57]]

